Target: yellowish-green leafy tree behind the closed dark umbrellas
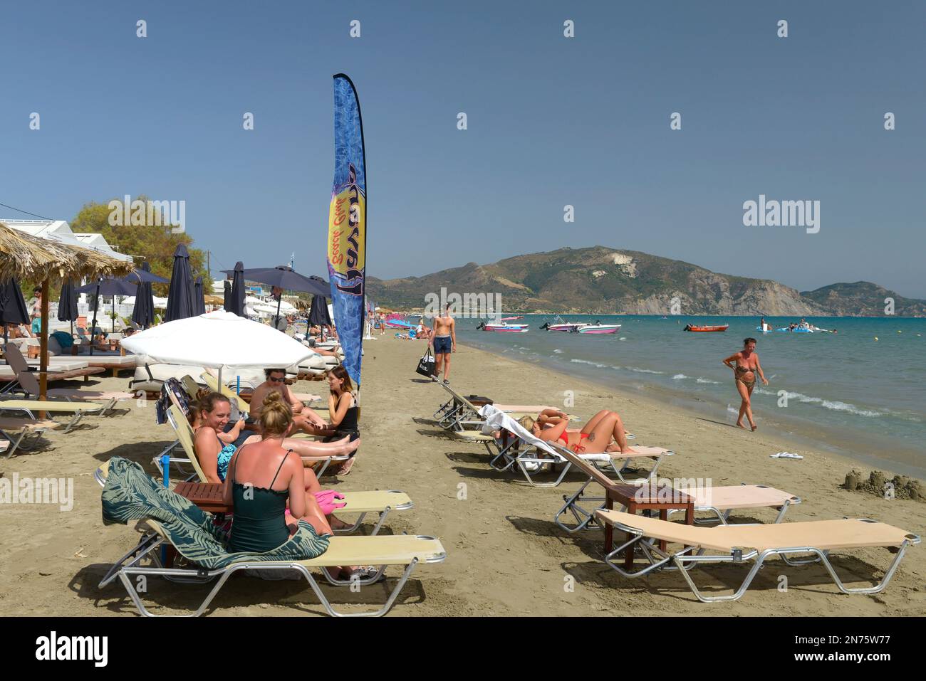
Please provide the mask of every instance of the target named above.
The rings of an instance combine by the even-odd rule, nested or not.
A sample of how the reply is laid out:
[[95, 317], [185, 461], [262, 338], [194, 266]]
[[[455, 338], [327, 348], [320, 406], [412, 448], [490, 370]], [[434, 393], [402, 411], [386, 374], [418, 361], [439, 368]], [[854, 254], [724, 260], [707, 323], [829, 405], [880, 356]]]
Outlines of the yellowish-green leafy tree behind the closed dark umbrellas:
[[[139, 201], [147, 202], [147, 196], [135, 197]], [[212, 292], [212, 280], [206, 271], [206, 252], [193, 248], [193, 237], [187, 232], [173, 234], [169, 226], [137, 227], [113, 226], [109, 224], [109, 215], [112, 212], [109, 202], [97, 204], [91, 201], [84, 204], [80, 212], [70, 221], [70, 229], [76, 232], [96, 232], [102, 234], [119, 253], [136, 256], [135, 265], [141, 264], [141, 258], [151, 265], [152, 273], [165, 279], [170, 279], [173, 271], [173, 254], [179, 244], [184, 244], [190, 252], [190, 269], [193, 278], [203, 278], [203, 288], [206, 293]], [[154, 284], [157, 296], [168, 294], [168, 284]]]

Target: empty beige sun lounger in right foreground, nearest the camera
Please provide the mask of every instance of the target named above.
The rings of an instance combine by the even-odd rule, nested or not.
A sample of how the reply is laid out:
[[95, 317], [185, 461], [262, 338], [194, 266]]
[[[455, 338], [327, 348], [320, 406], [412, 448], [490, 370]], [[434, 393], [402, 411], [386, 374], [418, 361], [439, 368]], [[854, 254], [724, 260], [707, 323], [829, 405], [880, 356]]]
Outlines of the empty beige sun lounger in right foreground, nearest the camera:
[[[701, 527], [671, 523], [643, 515], [620, 513], [619, 511], [595, 511], [604, 523], [622, 532], [628, 532], [632, 539], [618, 547], [614, 553], [623, 551], [637, 542], [644, 542], [644, 554], [650, 561], [649, 567], [638, 572], [627, 572], [619, 563], [607, 563], [621, 575], [635, 577], [647, 574], [654, 568], [674, 563], [675, 569], [684, 577], [698, 601], [736, 601], [745, 593], [757, 575], [759, 568], [771, 556], [781, 556], [789, 565], [822, 563], [832, 576], [840, 591], [846, 594], [879, 593], [887, 587], [891, 577], [904, 557], [907, 547], [919, 544], [920, 537], [894, 526], [878, 523], [866, 518], [843, 520], [815, 520], [800, 523], [777, 523], [772, 525], [718, 525]], [[681, 544], [680, 551], [660, 551], [656, 541]], [[850, 551], [862, 548], [884, 548], [895, 551], [896, 556], [882, 577], [873, 587], [848, 588], [836, 574], [830, 562], [831, 551]], [[705, 554], [703, 551], [720, 551]], [[698, 551], [694, 553], [694, 551]], [[807, 558], [806, 554], [815, 556]], [[795, 555], [805, 554], [795, 559]], [[689, 572], [702, 563], [743, 564], [752, 561], [743, 583], [732, 594], [707, 596], [694, 585]]]

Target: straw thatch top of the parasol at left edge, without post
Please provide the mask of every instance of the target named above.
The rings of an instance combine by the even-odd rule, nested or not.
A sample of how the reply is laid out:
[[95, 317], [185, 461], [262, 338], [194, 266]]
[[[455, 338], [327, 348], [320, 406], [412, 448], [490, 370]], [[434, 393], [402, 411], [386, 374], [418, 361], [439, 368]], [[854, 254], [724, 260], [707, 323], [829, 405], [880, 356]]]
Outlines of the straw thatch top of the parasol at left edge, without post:
[[131, 263], [94, 249], [33, 237], [0, 223], [0, 280], [124, 277], [133, 270]]

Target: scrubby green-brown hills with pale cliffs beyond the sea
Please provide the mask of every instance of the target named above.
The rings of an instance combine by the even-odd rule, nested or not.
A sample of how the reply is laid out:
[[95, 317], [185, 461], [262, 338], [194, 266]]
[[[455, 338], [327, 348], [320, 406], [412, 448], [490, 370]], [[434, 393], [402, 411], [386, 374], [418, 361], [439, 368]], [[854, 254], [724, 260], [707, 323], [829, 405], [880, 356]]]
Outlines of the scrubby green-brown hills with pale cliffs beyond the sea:
[[[680, 260], [603, 246], [518, 255], [491, 265], [469, 263], [424, 277], [368, 279], [369, 295], [398, 309], [421, 308], [425, 295], [500, 293], [503, 309], [526, 313], [845, 316], [883, 315], [895, 298], [898, 316], [926, 316], [926, 302], [874, 284], [834, 284], [802, 294], [770, 279], [717, 274]], [[839, 287], [847, 287], [840, 289]], [[845, 293], [844, 293], [845, 291]]]

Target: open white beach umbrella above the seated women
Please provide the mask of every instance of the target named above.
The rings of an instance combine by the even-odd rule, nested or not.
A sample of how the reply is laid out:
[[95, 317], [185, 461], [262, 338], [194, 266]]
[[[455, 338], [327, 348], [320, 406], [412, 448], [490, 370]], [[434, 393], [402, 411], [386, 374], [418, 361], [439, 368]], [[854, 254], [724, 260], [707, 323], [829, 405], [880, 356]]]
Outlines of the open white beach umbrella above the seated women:
[[286, 334], [224, 311], [139, 331], [122, 341], [122, 347], [147, 355], [151, 362], [217, 368], [219, 383], [225, 368], [285, 368], [314, 354]]

